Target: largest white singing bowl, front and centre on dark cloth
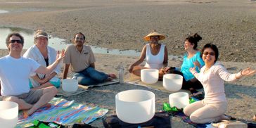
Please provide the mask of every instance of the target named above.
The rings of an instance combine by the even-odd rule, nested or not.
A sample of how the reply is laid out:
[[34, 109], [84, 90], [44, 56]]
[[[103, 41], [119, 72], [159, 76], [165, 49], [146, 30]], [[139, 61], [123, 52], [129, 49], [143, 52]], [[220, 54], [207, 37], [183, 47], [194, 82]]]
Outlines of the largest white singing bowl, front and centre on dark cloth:
[[147, 122], [155, 115], [155, 94], [139, 89], [122, 91], [115, 95], [115, 108], [123, 122]]

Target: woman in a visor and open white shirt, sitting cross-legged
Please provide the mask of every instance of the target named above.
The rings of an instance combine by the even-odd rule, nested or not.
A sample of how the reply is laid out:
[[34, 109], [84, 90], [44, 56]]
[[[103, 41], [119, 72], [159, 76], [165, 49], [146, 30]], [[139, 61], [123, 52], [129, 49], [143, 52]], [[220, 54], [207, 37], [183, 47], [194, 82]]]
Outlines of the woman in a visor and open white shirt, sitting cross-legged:
[[[47, 67], [56, 60], [57, 52], [48, 46], [48, 34], [42, 30], [37, 30], [34, 34], [34, 45], [24, 53], [23, 57], [32, 58], [40, 65]], [[41, 89], [44, 87], [60, 87], [60, 79], [56, 76], [60, 72], [60, 65], [51, 72], [50, 75], [33, 73], [30, 77], [30, 88]]]

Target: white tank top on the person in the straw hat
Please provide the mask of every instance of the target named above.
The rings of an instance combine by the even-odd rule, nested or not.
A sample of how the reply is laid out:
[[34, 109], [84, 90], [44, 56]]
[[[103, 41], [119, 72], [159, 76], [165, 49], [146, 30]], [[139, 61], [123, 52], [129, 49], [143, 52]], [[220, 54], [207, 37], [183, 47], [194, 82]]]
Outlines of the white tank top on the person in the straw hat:
[[165, 45], [161, 44], [160, 51], [157, 55], [151, 53], [151, 46], [146, 44], [146, 68], [160, 70], [163, 66], [165, 58]]

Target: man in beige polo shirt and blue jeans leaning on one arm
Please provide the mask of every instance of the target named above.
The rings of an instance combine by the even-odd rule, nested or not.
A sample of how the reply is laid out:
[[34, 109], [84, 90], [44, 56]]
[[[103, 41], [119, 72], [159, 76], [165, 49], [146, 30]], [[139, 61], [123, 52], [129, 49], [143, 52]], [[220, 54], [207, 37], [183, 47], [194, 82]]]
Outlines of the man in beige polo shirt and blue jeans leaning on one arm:
[[94, 53], [84, 42], [85, 36], [79, 32], [74, 36], [74, 44], [65, 49], [63, 79], [67, 78], [70, 65], [72, 72], [75, 72], [72, 79], [77, 79], [78, 84], [94, 85], [116, 78], [114, 74], [107, 75], [95, 69]]

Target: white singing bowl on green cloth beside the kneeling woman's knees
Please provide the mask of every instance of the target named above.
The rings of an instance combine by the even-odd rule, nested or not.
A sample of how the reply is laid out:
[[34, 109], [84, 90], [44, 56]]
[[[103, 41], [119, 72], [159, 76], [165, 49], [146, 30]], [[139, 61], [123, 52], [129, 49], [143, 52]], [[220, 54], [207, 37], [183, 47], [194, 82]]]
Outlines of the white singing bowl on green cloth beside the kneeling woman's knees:
[[177, 92], [169, 95], [169, 105], [171, 107], [185, 108], [189, 104], [188, 93]]

